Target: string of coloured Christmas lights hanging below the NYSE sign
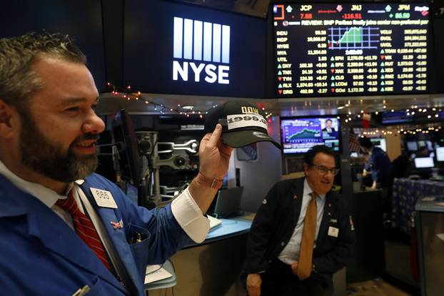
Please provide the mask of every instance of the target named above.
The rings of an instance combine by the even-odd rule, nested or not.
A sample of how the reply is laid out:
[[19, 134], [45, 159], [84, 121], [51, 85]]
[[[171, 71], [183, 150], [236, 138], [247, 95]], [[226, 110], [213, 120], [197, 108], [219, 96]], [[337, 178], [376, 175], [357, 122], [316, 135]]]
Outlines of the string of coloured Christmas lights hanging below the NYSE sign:
[[[171, 114], [176, 113], [179, 115], [183, 115], [186, 117], [190, 116], [198, 116], [199, 118], [203, 118], [212, 108], [216, 108], [217, 105], [213, 105], [208, 110], [196, 110], [193, 106], [181, 106], [178, 104], [177, 106], [166, 106], [163, 103], [156, 103], [155, 101], [148, 100], [148, 98], [143, 97], [142, 93], [140, 91], [133, 91], [131, 86], [126, 86], [125, 88], [121, 88], [119, 86], [114, 85], [111, 82], [106, 83], [107, 90], [113, 95], [118, 96], [120, 98], [126, 99], [127, 101], [139, 101], [141, 103], [149, 104], [154, 107], [154, 111], [157, 111], [159, 114]], [[272, 113], [268, 113], [265, 111], [265, 108], [261, 108], [262, 111], [265, 112], [266, 118], [270, 118], [273, 116]]]

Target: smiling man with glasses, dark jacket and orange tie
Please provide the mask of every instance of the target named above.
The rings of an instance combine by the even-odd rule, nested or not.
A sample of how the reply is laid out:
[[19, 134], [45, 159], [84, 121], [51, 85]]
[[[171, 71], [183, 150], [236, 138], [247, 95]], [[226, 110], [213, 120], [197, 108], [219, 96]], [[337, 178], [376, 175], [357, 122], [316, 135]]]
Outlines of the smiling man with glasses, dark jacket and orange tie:
[[333, 151], [308, 150], [306, 178], [273, 185], [251, 225], [244, 272], [248, 295], [323, 295], [351, 257], [348, 205], [331, 187]]

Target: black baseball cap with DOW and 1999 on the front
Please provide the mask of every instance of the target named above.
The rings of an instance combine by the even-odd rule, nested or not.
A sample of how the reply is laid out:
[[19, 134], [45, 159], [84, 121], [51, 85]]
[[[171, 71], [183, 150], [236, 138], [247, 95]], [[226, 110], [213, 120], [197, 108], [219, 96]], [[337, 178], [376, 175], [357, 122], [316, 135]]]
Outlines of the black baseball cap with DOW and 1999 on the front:
[[255, 104], [228, 101], [211, 109], [205, 116], [206, 133], [213, 133], [218, 123], [222, 126], [222, 143], [228, 146], [241, 148], [268, 141], [282, 149], [280, 144], [268, 136], [265, 114]]

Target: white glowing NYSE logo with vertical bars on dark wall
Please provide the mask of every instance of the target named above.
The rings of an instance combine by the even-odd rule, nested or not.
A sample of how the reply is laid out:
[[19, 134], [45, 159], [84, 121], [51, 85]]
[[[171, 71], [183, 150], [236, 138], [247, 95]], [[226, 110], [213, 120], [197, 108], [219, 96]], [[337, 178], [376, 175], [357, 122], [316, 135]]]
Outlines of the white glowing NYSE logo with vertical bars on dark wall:
[[230, 26], [175, 17], [173, 58], [173, 80], [229, 84]]

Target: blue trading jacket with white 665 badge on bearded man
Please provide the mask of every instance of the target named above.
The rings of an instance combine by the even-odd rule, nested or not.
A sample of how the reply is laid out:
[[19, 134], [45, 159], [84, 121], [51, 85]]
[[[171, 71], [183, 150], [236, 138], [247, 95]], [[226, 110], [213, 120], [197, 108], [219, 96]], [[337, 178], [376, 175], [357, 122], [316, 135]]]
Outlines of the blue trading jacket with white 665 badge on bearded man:
[[[118, 208], [97, 206], [91, 187], [110, 191]], [[138, 207], [97, 174], [87, 177], [81, 188], [99, 213], [132, 289], [125, 289], [51, 208], [0, 175], [1, 295], [73, 295], [85, 285], [91, 289], [88, 296], [143, 295], [146, 265], [161, 264], [190, 243], [170, 205], [160, 210]], [[123, 227], [115, 229], [111, 222], [119, 221]], [[136, 233], [144, 239], [129, 243]]]

